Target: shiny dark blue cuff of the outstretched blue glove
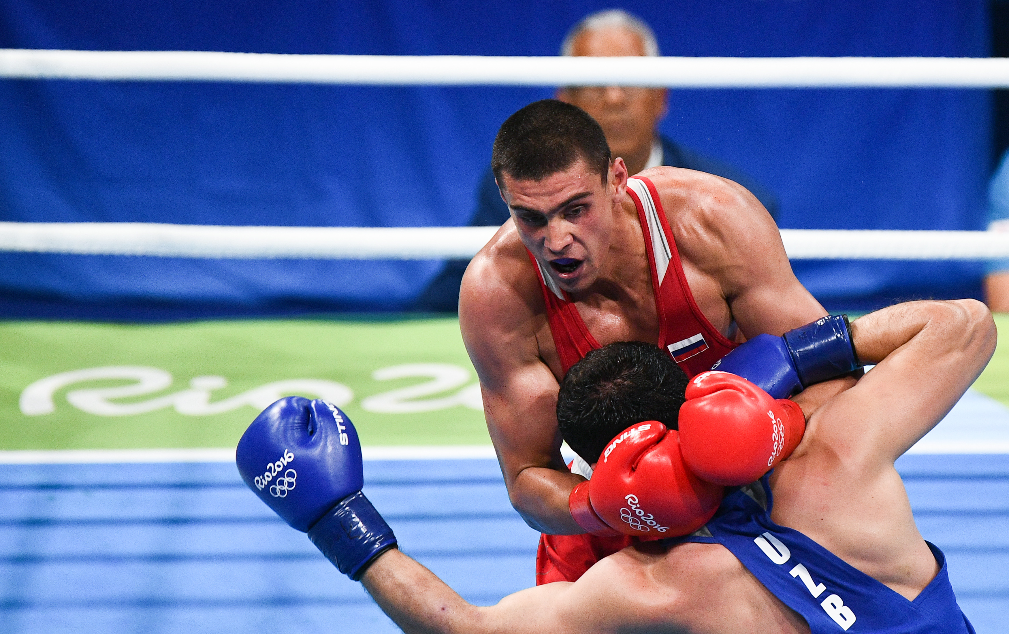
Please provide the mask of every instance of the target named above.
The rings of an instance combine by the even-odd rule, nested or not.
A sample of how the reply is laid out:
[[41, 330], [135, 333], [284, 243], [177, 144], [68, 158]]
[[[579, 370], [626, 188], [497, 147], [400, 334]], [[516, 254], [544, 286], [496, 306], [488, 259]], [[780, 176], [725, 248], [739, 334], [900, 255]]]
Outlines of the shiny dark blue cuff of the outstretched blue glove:
[[360, 491], [326, 511], [309, 529], [309, 539], [355, 582], [375, 557], [396, 546], [393, 529]]

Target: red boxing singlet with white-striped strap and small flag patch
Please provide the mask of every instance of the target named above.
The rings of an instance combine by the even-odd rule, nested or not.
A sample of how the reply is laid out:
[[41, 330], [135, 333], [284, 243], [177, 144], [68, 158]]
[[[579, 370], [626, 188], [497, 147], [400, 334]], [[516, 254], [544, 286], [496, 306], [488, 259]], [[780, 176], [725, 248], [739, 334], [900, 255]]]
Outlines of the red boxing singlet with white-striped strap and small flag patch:
[[[638, 176], [628, 179], [627, 191], [638, 208], [638, 219], [645, 234], [655, 308], [659, 316], [658, 345], [692, 378], [710, 370], [714, 362], [738, 344], [728, 341], [711, 326], [697, 307], [687, 286], [676, 241], [673, 240], [655, 185], [648, 178]], [[529, 257], [540, 276], [550, 334], [562, 371], [567, 374], [588, 351], [601, 346], [588, 332], [567, 293], [544, 273], [532, 253]], [[536, 555], [536, 583], [577, 581], [593, 563], [633, 542], [629, 536], [541, 535]]]

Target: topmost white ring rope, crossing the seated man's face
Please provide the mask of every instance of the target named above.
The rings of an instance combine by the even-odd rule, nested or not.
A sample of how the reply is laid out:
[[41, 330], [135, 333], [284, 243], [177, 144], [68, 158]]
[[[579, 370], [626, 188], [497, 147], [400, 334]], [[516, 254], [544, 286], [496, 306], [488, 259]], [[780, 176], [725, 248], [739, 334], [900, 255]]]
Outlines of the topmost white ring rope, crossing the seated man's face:
[[371, 86], [1009, 88], [1007, 57], [521, 57], [0, 49], [0, 78]]

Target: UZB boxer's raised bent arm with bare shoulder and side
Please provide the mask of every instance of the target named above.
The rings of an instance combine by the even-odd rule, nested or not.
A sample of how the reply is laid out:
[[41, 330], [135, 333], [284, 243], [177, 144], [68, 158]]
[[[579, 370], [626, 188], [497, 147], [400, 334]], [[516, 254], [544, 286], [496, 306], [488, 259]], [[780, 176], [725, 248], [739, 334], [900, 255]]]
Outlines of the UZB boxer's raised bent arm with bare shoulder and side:
[[878, 363], [810, 416], [792, 459], [772, 477], [772, 517], [914, 599], [936, 562], [894, 461], [981, 373], [995, 325], [984, 304], [962, 299], [897, 304], [852, 330], [859, 357]]

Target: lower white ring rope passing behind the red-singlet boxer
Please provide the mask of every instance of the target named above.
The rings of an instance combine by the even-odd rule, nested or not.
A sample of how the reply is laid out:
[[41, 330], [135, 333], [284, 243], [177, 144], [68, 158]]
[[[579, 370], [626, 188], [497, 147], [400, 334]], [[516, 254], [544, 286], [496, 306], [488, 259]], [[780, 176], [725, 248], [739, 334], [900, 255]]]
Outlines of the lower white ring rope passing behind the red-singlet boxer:
[[[0, 222], [0, 251], [222, 259], [424, 260], [472, 257], [496, 227], [217, 227]], [[1009, 233], [782, 229], [788, 257], [984, 260]]]

